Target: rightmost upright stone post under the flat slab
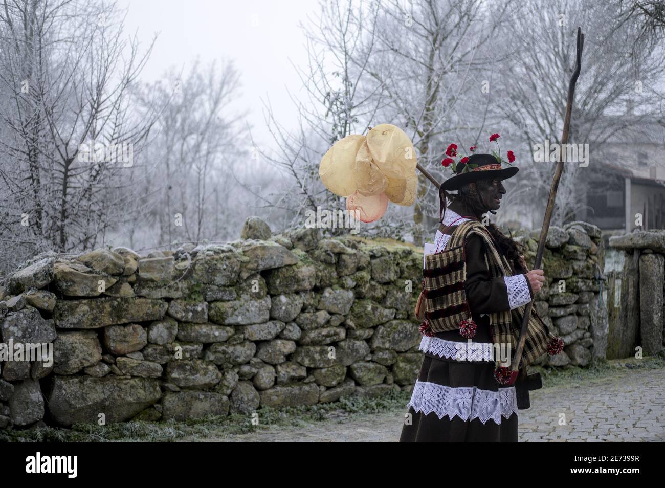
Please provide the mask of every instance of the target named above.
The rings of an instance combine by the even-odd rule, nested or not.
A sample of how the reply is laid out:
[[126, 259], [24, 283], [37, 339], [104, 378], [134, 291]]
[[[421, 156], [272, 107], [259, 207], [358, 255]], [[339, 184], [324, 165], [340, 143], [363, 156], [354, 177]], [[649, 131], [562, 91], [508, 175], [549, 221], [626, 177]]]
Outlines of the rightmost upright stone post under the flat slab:
[[640, 256], [640, 332], [645, 355], [663, 346], [663, 283], [665, 258], [645, 251]]

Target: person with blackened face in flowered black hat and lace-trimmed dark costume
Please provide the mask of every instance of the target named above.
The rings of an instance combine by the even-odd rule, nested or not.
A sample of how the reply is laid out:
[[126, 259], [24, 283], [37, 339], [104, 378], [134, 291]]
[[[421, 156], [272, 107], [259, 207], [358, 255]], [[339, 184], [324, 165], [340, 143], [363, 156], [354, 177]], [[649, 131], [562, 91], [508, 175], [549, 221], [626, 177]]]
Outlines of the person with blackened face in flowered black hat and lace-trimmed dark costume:
[[[528, 408], [529, 403], [525, 366], [544, 352], [558, 354], [563, 347], [534, 313], [518, 379], [501, 384], [496, 358], [500, 348], [495, 344], [509, 342], [511, 349], [501, 350], [514, 352], [524, 305], [541, 289], [545, 276], [542, 270], [527, 270], [519, 245], [496, 225], [481, 224], [488, 212], [501, 206], [506, 193], [502, 182], [518, 168], [502, 168], [491, 154], [465, 159], [469, 168], [457, 164], [456, 176], [440, 188], [441, 225], [434, 252], [448, 249], [452, 241], [463, 243], [466, 279], [462, 285], [472, 320], [460, 322], [460, 330], [436, 333], [421, 326], [424, 358], [400, 442], [516, 442], [518, 408]], [[447, 205], [449, 190], [458, 193], [450, 195]], [[456, 234], [462, 227], [464, 236]], [[419, 304], [416, 314], [422, 316], [420, 299]], [[523, 406], [518, 405], [518, 390]]]

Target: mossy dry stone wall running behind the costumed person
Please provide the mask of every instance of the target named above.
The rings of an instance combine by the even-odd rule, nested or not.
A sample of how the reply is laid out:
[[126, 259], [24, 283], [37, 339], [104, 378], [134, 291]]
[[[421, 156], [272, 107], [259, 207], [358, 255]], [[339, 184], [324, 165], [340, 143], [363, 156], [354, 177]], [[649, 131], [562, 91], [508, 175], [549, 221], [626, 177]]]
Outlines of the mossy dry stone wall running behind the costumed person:
[[[546, 272], [569, 285], [536, 307], [567, 348], [541, 364], [604, 354], [593, 318], [602, 247], [578, 227], [549, 241]], [[231, 243], [39, 255], [0, 287], [0, 332], [5, 344], [52, 344], [53, 364], [4, 360], [0, 427], [184, 420], [408, 390], [422, 362], [412, 318], [422, 260], [412, 245], [273, 234], [254, 217]]]

